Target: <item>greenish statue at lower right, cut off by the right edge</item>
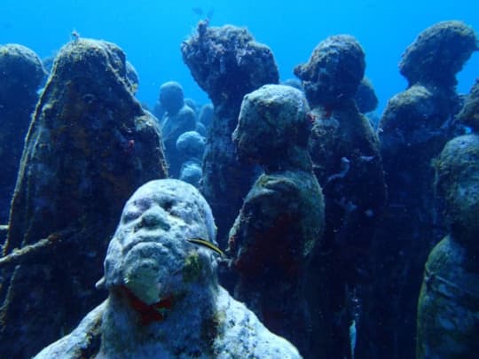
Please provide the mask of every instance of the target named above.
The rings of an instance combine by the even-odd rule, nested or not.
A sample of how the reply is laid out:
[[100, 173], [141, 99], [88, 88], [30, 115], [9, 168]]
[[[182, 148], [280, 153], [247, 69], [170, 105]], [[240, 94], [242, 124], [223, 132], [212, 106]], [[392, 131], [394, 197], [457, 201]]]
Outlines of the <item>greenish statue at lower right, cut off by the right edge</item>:
[[479, 136], [452, 139], [434, 166], [449, 233], [424, 269], [416, 358], [474, 358], [479, 354]]

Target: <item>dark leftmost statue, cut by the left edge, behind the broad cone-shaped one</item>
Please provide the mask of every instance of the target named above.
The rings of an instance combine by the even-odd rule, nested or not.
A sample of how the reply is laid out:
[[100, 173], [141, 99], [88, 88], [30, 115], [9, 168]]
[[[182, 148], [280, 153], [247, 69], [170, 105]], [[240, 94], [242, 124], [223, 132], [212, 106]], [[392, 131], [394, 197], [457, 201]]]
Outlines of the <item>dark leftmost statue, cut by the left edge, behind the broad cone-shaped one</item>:
[[36, 90], [45, 76], [34, 51], [15, 43], [0, 46], [0, 224], [8, 221]]

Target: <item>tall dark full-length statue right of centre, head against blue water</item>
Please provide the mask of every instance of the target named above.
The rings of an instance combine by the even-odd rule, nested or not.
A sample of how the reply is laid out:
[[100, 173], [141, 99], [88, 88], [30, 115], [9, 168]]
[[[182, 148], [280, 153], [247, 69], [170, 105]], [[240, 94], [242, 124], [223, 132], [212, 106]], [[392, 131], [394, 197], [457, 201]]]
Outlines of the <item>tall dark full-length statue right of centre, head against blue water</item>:
[[352, 325], [358, 350], [368, 341], [369, 253], [386, 205], [379, 139], [355, 101], [365, 52], [353, 36], [330, 36], [294, 74], [312, 109], [310, 156], [326, 201], [325, 235], [311, 269], [324, 290], [316, 293], [311, 315], [325, 322], [318, 347], [329, 357], [346, 357]]

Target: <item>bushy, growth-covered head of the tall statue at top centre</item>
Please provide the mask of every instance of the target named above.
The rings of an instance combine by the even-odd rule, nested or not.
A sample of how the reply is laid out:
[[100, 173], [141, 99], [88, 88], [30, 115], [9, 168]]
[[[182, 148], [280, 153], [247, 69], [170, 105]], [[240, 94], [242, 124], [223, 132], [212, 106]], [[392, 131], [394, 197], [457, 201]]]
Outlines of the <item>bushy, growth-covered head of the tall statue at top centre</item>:
[[197, 31], [182, 44], [181, 51], [194, 80], [215, 106], [238, 103], [264, 83], [278, 82], [270, 48], [256, 43], [246, 28], [208, 27], [200, 21]]

